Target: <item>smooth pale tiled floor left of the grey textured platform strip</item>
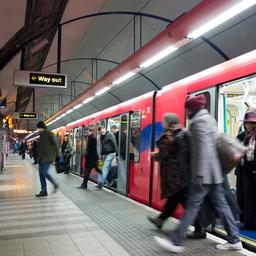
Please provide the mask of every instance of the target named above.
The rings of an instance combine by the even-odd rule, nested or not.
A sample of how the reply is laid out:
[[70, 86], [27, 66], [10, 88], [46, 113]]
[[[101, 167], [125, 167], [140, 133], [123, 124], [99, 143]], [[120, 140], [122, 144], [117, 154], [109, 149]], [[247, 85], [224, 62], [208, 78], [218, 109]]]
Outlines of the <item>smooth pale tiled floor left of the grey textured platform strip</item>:
[[38, 190], [35, 169], [10, 156], [0, 174], [0, 256], [129, 255], [61, 192], [38, 199]]

